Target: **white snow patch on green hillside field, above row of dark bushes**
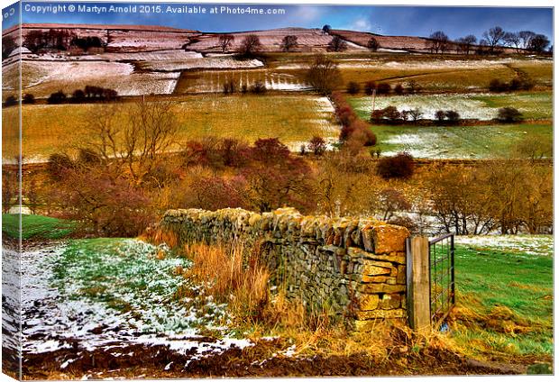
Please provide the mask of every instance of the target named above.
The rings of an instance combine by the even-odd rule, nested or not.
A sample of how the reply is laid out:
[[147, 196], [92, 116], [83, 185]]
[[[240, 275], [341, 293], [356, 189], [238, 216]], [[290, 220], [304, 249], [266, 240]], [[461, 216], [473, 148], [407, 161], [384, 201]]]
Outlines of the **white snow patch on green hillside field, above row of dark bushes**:
[[[388, 106], [396, 106], [402, 112], [404, 110], [419, 109], [423, 115], [421, 118], [435, 120], [438, 110], [454, 110], [463, 119], [479, 119], [489, 121], [496, 118], [499, 113], [498, 107], [489, 107], [475, 97], [480, 94], [460, 95], [429, 95], [429, 96], [378, 96], [375, 100], [375, 109], [380, 110]], [[371, 114], [371, 97], [365, 97], [356, 102], [356, 109]]]

